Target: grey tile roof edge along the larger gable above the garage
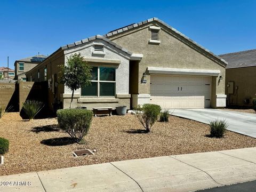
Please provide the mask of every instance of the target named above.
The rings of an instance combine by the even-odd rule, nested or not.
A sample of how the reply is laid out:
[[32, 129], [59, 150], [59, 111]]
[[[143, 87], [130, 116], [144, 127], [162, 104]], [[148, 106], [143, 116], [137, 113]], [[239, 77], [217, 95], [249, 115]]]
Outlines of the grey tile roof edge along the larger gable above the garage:
[[158, 19], [158, 18], [151, 18], [151, 19], [147, 19], [145, 21], [141, 21], [141, 22], [138, 22], [138, 23], [133, 23], [129, 26], [125, 26], [123, 28], [119, 28], [119, 29], [116, 29], [116, 30], [113, 30], [113, 31], [110, 31], [109, 33], [103, 35], [104, 37], [110, 37], [110, 36], [113, 36], [113, 35], [116, 35], [118, 33], [123, 33], [124, 31], [127, 31], [127, 30], [131, 30], [133, 28], [136, 28], [136, 27], [139, 27], [139, 26], [142, 26], [142, 25], [145, 25], [146, 23], [149, 23], [149, 22], [153, 22], [153, 21], [158, 21], [159, 23], [161, 23], [162, 25], [164, 25], [165, 27], [171, 29], [172, 31], [174, 31], [174, 33], [182, 36], [183, 38], [187, 39], [187, 41], [193, 43], [194, 45], [196, 45], [197, 47], [203, 49], [204, 51], [206, 51], [207, 53], [211, 54], [214, 58], [217, 58], [218, 60], [220, 60], [222, 63], [224, 63], [224, 65], [227, 65], [227, 62], [220, 58], [218, 55], [215, 55], [214, 53], [212, 53], [211, 51], [205, 49], [203, 46], [199, 45], [198, 43], [196, 43], [195, 41], [193, 41], [192, 39], [190, 39], [189, 37], [187, 37], [186, 35], [180, 33], [180, 31], [178, 31], [177, 29], [171, 27], [170, 25], [168, 25], [167, 23], [165, 23], [164, 21]]

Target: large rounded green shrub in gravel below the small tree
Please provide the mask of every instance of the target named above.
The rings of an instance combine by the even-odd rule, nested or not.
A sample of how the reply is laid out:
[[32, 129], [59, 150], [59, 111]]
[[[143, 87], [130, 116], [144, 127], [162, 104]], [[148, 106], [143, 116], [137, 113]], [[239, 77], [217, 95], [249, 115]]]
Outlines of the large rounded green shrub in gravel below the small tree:
[[76, 142], [80, 142], [89, 131], [93, 113], [84, 109], [59, 109], [57, 111], [60, 129], [66, 131]]

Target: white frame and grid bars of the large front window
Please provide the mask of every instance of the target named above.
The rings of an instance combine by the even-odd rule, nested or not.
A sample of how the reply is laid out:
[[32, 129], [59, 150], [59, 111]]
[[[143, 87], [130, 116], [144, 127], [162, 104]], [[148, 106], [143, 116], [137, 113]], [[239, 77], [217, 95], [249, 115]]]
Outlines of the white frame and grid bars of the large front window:
[[[95, 95], [95, 96], [82, 95], [82, 87], [81, 87], [81, 98], [115, 98], [115, 95], [116, 95], [116, 68], [115, 67], [106, 67], [106, 66], [92, 66], [92, 67], [97, 67], [97, 80], [91, 80], [91, 82], [97, 83], [97, 95]], [[115, 69], [115, 81], [101, 81], [100, 80], [100, 67], [114, 68]], [[100, 83], [115, 83], [115, 95], [100, 96]]]

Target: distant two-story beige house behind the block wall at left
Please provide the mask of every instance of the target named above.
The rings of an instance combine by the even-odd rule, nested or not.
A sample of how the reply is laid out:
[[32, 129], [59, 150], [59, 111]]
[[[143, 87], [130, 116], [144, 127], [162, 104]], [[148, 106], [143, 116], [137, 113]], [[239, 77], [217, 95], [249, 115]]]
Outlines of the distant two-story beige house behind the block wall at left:
[[33, 69], [39, 63], [41, 63], [45, 58], [45, 55], [35, 55], [33, 57], [28, 57], [20, 59], [14, 62], [15, 68], [15, 79], [26, 81], [26, 72]]

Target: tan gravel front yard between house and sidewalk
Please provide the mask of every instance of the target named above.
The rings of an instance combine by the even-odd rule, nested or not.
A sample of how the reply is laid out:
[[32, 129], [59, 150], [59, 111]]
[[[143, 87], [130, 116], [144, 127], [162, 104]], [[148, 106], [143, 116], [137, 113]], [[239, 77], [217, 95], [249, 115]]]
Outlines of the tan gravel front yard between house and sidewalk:
[[[1, 121], [0, 137], [9, 139], [10, 149], [0, 175], [256, 146], [256, 139], [230, 131], [225, 138], [209, 138], [209, 125], [174, 116], [169, 123], [157, 122], [147, 134], [138, 133], [143, 127], [134, 115], [93, 117], [84, 145], [71, 143], [69, 135], [58, 130], [56, 118], [24, 121], [19, 113], [9, 113]], [[71, 155], [86, 148], [97, 152]]]

